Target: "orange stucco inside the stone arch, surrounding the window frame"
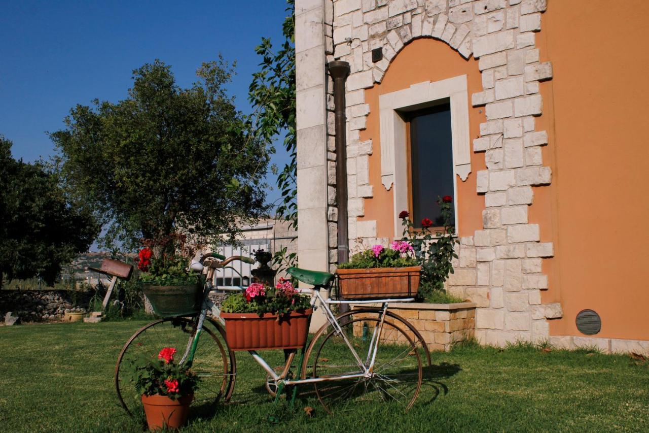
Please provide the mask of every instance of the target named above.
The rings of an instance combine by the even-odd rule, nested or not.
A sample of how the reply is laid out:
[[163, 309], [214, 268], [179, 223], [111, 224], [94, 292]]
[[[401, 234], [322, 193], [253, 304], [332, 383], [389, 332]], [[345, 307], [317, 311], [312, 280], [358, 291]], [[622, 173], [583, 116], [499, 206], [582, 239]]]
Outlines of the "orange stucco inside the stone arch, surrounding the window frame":
[[[395, 92], [422, 81], [439, 81], [446, 78], [467, 75], [469, 107], [471, 94], [482, 91], [482, 77], [477, 60], [469, 61], [450, 48], [445, 42], [433, 39], [419, 39], [404, 47], [395, 57], [382, 82], [365, 91], [365, 103], [370, 114], [367, 129], [361, 131], [361, 140], [372, 139], [373, 154], [369, 158], [370, 183], [374, 185], [374, 197], [365, 200], [365, 217], [360, 220], [376, 220], [378, 237], [392, 238], [394, 218], [403, 209], [393, 209], [393, 189], [387, 191], [381, 184], [380, 124], [378, 97]], [[485, 121], [484, 109], [469, 108], [470, 137], [478, 137], [480, 123]], [[457, 177], [458, 183], [458, 226], [460, 236], [472, 236], [482, 229], [484, 197], [476, 194], [476, 172], [484, 170], [484, 153], [471, 155], [471, 174], [466, 181]]]

